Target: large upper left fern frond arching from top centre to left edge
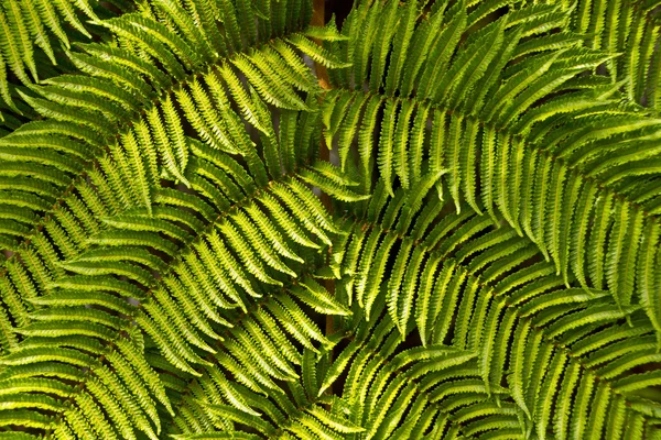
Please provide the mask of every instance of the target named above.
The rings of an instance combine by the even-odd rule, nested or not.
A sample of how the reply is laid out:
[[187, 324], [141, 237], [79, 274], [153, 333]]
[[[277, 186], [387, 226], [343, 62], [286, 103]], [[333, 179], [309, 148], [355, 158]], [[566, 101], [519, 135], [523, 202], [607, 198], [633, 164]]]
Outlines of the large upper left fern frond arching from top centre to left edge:
[[[277, 11], [288, 4], [271, 8]], [[301, 13], [310, 13], [310, 6], [301, 8]], [[41, 98], [23, 95], [47, 119], [24, 124], [1, 140], [3, 249], [22, 255], [33, 237], [66, 210], [67, 195], [99, 170], [109, 173], [106, 177], [116, 186], [134, 183], [136, 188], [120, 196], [122, 209], [140, 200], [149, 211], [152, 188], [161, 177], [191, 186], [184, 177], [189, 154], [187, 134], [219, 151], [250, 155], [253, 141], [245, 121], [272, 142], [267, 103], [308, 108], [294, 88], [314, 91], [314, 80], [292, 46], [284, 40], [272, 40], [267, 47], [254, 51], [256, 44], [272, 36], [304, 29], [306, 24], [300, 16], [283, 18], [274, 29], [256, 29], [249, 41], [239, 38], [241, 45], [225, 47], [223, 38], [229, 36], [216, 35], [217, 22], [210, 18], [208, 28], [189, 28], [189, 19], [182, 19], [186, 11], [182, 6], [163, 3], [159, 11], [158, 15], [153, 11], [136, 12], [104, 21], [116, 32], [116, 40], [88, 44], [83, 46], [84, 52], [72, 53], [80, 74], [54, 77], [48, 85], [33, 88]], [[240, 11], [225, 13], [225, 20], [230, 20]], [[161, 16], [169, 16], [173, 24], [160, 23]], [[203, 43], [206, 45], [201, 55], [192, 47]], [[180, 77], [174, 75], [177, 72]], [[254, 74], [252, 81], [248, 72]], [[262, 76], [271, 72], [281, 74], [264, 82]], [[249, 78], [247, 85], [240, 79], [243, 74]], [[310, 136], [311, 127], [306, 130]], [[288, 135], [282, 144], [292, 157], [292, 148], [302, 147], [302, 143], [293, 138], [294, 132]], [[120, 152], [115, 156], [119, 170], [101, 170], [109, 151]], [[290, 158], [283, 161], [285, 169], [291, 169]], [[158, 169], [158, 164], [163, 166]], [[277, 165], [270, 162], [270, 166]], [[263, 176], [256, 177], [266, 182]], [[18, 209], [10, 208], [17, 205]], [[67, 222], [75, 224], [76, 217]], [[64, 253], [71, 257], [69, 252]], [[19, 292], [23, 288], [19, 286]], [[25, 290], [19, 296], [32, 295]]]

